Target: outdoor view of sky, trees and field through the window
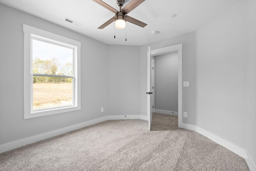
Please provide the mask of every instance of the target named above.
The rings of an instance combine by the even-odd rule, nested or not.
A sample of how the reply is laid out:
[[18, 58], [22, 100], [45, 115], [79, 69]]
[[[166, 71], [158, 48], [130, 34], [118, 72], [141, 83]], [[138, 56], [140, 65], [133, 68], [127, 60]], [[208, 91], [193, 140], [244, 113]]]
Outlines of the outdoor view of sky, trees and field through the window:
[[32, 110], [74, 105], [74, 48], [31, 36]]

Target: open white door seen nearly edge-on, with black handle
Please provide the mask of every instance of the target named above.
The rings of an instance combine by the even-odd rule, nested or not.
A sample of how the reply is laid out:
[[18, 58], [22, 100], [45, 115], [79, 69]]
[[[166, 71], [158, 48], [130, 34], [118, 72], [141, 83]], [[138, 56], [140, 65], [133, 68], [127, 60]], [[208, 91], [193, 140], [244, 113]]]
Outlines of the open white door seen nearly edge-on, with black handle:
[[148, 108], [148, 131], [150, 131], [152, 123], [152, 56], [150, 47], [148, 47], [148, 92], [147, 93], [147, 108]]

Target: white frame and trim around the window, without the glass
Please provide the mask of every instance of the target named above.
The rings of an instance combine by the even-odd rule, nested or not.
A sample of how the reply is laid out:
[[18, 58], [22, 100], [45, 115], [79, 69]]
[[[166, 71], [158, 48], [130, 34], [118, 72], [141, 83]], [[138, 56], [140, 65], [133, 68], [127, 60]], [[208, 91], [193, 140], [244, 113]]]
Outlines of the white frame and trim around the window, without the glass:
[[[81, 42], [60, 36], [51, 32], [41, 30], [32, 26], [23, 24], [24, 32], [24, 119], [33, 117], [41, 117], [46, 115], [53, 115], [57, 113], [64, 113], [68, 111], [75, 111], [81, 109], [81, 69], [80, 69], [80, 54], [81, 54]], [[32, 109], [32, 88], [33, 88], [33, 73], [32, 73], [32, 48], [31, 48], [31, 36], [36, 35], [38, 37], [53, 40], [54, 42], [68, 44], [76, 49], [74, 55], [74, 104], [69, 106], [60, 106], [54, 108], [46, 108], [40, 110]], [[40, 75], [40, 74], [38, 74]]]

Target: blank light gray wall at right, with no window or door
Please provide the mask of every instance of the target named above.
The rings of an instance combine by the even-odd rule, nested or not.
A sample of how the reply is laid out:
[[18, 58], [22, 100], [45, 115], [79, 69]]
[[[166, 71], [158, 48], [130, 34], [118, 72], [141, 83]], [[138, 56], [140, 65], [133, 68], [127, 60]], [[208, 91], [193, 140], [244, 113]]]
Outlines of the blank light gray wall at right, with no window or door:
[[256, 163], [256, 1], [240, 0], [196, 31], [196, 125]]

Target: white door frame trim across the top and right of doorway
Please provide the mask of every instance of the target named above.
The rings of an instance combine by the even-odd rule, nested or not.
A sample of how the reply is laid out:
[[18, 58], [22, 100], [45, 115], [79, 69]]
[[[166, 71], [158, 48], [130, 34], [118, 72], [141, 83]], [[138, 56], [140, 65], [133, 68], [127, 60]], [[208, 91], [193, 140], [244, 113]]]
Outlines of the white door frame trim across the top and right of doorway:
[[182, 44], [150, 50], [151, 56], [178, 52], [178, 127], [182, 125]]

